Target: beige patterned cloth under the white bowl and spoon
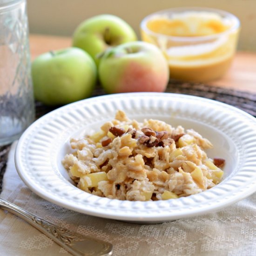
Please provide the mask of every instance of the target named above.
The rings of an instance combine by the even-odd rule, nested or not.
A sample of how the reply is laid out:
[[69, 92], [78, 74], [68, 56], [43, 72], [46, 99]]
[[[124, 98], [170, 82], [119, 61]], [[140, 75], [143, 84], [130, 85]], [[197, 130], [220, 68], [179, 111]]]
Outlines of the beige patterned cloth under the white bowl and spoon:
[[[1, 197], [84, 235], [107, 240], [115, 256], [256, 256], [256, 193], [216, 213], [162, 224], [101, 219], [41, 199], [20, 180], [9, 154]], [[0, 210], [1, 256], [69, 255], [20, 218]]]

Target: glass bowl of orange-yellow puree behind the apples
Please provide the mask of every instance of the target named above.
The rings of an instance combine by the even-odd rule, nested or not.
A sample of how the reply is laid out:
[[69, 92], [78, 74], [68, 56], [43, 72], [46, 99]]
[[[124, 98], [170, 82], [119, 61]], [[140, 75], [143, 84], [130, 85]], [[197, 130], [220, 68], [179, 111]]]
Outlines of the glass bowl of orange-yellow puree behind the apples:
[[211, 81], [225, 74], [239, 31], [236, 16], [212, 8], [172, 8], [141, 21], [141, 39], [159, 47], [170, 78], [183, 81]]

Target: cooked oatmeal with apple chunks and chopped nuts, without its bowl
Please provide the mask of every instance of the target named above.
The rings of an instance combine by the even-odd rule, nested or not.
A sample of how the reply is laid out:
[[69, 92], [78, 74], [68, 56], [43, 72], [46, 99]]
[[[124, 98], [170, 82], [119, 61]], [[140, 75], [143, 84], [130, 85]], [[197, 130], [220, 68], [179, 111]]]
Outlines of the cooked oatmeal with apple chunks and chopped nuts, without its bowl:
[[130, 120], [119, 110], [100, 131], [71, 139], [62, 163], [77, 187], [111, 199], [167, 200], [221, 182], [224, 160], [210, 159], [208, 139], [159, 120]]

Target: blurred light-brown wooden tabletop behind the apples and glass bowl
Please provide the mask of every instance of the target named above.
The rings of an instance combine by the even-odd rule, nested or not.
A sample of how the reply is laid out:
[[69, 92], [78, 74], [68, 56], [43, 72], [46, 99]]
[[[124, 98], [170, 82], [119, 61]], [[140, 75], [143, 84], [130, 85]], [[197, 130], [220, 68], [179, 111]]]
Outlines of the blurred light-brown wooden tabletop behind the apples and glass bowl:
[[[30, 35], [31, 58], [50, 50], [70, 47], [69, 37]], [[256, 93], [256, 53], [237, 52], [228, 73], [219, 80], [211, 81], [208, 85]]]

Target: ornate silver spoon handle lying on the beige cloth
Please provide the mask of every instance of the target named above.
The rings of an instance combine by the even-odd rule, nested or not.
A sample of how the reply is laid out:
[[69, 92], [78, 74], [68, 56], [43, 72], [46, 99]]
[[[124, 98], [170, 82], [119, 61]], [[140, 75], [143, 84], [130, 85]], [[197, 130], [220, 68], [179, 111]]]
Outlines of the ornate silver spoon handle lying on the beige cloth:
[[112, 255], [111, 243], [61, 228], [0, 198], [0, 208], [19, 216], [75, 256]]

